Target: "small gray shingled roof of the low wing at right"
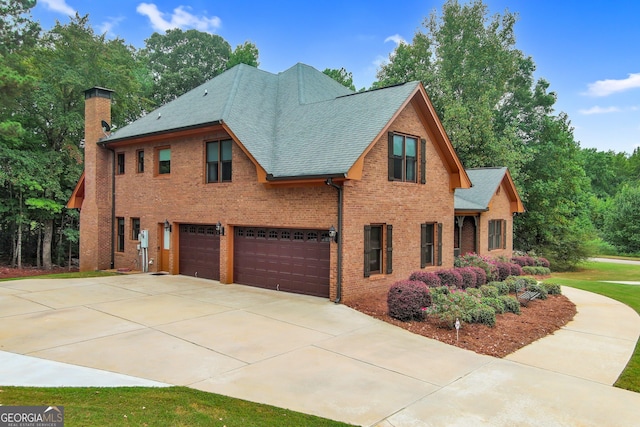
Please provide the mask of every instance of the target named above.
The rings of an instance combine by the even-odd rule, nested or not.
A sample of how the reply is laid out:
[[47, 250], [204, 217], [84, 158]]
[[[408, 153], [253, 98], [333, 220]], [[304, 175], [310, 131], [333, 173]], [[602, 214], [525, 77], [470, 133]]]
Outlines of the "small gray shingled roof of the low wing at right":
[[455, 190], [455, 210], [486, 211], [507, 173], [507, 168], [477, 168], [466, 171], [473, 186]]

